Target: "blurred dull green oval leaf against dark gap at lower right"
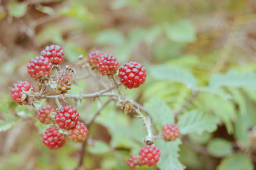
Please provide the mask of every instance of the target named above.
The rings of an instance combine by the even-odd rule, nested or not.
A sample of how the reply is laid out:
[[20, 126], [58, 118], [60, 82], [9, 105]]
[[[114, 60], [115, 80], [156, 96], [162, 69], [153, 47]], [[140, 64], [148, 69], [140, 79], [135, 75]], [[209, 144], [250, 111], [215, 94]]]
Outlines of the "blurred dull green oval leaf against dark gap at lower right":
[[232, 153], [232, 144], [221, 138], [213, 139], [207, 146], [207, 151], [214, 157], [225, 157]]

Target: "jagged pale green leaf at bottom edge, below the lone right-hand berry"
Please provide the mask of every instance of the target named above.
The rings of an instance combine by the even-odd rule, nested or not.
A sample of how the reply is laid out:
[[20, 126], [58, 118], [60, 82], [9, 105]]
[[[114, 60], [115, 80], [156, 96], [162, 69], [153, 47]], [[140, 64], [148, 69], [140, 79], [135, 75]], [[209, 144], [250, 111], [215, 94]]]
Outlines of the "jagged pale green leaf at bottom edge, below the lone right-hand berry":
[[185, 169], [179, 162], [180, 139], [166, 143], [163, 139], [157, 139], [156, 146], [161, 151], [161, 157], [157, 162], [157, 167], [161, 170], [181, 170]]

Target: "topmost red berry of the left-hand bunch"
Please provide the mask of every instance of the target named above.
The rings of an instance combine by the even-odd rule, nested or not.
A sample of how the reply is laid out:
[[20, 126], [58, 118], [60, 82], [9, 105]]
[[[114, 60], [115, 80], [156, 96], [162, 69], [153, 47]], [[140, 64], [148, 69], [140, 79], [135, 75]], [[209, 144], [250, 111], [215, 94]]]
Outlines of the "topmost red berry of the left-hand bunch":
[[49, 58], [51, 63], [60, 64], [64, 59], [64, 51], [61, 49], [60, 45], [50, 45], [42, 50], [41, 56]]

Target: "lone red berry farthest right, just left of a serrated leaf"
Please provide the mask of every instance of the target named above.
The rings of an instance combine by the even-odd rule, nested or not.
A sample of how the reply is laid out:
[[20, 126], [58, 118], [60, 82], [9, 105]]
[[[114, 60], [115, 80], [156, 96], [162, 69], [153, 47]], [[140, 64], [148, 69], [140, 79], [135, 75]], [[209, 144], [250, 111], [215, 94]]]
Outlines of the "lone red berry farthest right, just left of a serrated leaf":
[[162, 134], [166, 141], [175, 141], [180, 136], [180, 130], [177, 125], [166, 124], [163, 127]]

